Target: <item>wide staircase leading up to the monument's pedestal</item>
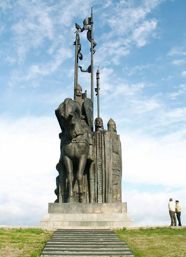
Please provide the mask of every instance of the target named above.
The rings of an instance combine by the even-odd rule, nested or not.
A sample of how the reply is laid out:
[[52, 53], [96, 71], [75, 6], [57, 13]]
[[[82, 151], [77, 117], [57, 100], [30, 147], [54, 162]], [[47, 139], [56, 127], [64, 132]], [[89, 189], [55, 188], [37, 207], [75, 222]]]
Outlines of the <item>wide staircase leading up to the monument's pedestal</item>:
[[134, 256], [115, 232], [102, 230], [58, 229], [47, 241], [41, 256]]

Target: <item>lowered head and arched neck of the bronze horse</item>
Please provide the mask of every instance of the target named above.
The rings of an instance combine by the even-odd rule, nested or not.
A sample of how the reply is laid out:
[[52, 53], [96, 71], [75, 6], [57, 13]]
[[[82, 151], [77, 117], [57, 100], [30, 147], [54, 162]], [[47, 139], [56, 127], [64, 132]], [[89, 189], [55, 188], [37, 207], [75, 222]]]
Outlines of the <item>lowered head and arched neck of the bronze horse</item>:
[[83, 135], [85, 130], [81, 126], [81, 114], [77, 104], [71, 98], [66, 98], [55, 112], [60, 127], [65, 128], [68, 137]]

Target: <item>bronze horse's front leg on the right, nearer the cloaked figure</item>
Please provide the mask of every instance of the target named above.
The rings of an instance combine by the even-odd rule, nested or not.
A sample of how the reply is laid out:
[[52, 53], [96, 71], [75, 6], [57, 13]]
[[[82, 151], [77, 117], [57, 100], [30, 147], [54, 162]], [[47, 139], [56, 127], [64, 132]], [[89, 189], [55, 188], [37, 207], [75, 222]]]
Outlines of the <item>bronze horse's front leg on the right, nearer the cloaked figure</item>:
[[85, 191], [83, 190], [83, 173], [85, 170], [85, 165], [87, 162], [87, 155], [82, 155], [79, 159], [78, 170], [77, 170], [77, 183], [79, 189], [79, 200], [81, 203], [86, 203], [87, 200], [85, 198]]

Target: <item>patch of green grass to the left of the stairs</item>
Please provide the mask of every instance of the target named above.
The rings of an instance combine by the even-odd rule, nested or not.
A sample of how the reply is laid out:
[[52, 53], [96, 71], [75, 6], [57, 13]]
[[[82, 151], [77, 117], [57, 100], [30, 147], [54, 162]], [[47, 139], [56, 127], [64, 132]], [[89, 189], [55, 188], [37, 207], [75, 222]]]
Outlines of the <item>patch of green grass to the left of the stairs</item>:
[[1, 257], [38, 257], [53, 231], [36, 229], [0, 229]]

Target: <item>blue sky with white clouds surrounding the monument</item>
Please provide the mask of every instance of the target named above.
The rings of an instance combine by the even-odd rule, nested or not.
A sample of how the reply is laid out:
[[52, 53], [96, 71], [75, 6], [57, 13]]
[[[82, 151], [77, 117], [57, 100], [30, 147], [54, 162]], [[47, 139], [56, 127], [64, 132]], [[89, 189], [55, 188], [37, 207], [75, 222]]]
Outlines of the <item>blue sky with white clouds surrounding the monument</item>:
[[[100, 116], [122, 143], [122, 201], [136, 226], [186, 225], [186, 5], [184, 0], [0, 1], [0, 225], [39, 226], [56, 195], [60, 126], [73, 98], [75, 23], [93, 7]], [[90, 42], [80, 33], [83, 60]], [[78, 74], [90, 97], [90, 74]], [[97, 117], [94, 95], [94, 117]]]

